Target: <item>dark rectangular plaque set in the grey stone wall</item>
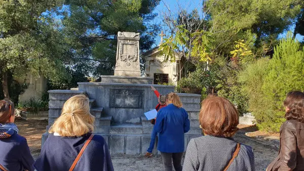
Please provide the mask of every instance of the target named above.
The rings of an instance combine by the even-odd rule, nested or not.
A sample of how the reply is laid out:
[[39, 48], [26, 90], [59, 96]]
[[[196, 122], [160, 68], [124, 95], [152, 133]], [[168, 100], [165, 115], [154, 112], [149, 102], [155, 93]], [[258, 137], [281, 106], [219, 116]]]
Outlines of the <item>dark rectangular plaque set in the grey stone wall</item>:
[[110, 89], [110, 108], [143, 108], [143, 90]]

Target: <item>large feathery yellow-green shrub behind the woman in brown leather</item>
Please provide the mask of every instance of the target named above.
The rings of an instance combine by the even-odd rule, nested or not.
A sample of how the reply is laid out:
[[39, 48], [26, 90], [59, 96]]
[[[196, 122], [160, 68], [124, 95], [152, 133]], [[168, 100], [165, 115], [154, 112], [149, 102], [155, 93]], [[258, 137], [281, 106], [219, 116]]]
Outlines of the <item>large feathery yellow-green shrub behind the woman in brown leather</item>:
[[275, 48], [272, 59], [257, 60], [240, 74], [242, 92], [260, 129], [279, 132], [285, 121], [283, 101], [288, 92], [304, 90], [303, 75], [304, 51], [290, 33]]

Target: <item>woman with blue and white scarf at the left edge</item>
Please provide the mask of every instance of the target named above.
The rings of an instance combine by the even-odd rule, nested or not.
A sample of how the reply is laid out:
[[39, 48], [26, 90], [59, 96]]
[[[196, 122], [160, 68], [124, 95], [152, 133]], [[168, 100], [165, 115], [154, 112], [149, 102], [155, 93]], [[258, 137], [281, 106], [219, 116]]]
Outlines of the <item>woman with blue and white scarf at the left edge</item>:
[[0, 101], [0, 170], [34, 170], [26, 139], [18, 135], [13, 102]]

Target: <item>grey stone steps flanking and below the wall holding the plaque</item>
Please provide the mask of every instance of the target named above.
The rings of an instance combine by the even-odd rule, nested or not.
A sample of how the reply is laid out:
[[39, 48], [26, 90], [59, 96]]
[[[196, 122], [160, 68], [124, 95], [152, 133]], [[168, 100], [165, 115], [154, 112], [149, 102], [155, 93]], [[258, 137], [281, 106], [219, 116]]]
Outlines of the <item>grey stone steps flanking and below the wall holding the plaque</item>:
[[[49, 127], [60, 116], [64, 102], [78, 94], [86, 94], [80, 90], [54, 90], [49, 91], [49, 125], [47, 132], [43, 134], [42, 144], [46, 141]], [[188, 112], [191, 129], [185, 134], [185, 149], [190, 139], [202, 136], [199, 127], [198, 115], [200, 111], [200, 95], [178, 94], [183, 102], [183, 108]], [[108, 144], [110, 154], [145, 154], [149, 143], [153, 124], [144, 115], [140, 117], [140, 123], [115, 123], [113, 117], [104, 112], [104, 107], [96, 106], [95, 99], [90, 99], [90, 112], [95, 116], [95, 131], [104, 137]], [[157, 141], [153, 153], [157, 151]]]

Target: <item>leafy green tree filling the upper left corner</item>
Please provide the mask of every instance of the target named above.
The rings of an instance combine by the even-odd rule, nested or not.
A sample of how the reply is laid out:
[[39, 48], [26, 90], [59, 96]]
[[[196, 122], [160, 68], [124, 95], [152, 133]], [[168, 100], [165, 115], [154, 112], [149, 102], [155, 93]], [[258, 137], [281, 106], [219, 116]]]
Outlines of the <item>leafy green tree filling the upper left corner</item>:
[[53, 20], [42, 15], [62, 1], [0, 2], [0, 64], [3, 90], [9, 98], [7, 73], [34, 76], [43, 74], [53, 80], [63, 76], [64, 42]]

